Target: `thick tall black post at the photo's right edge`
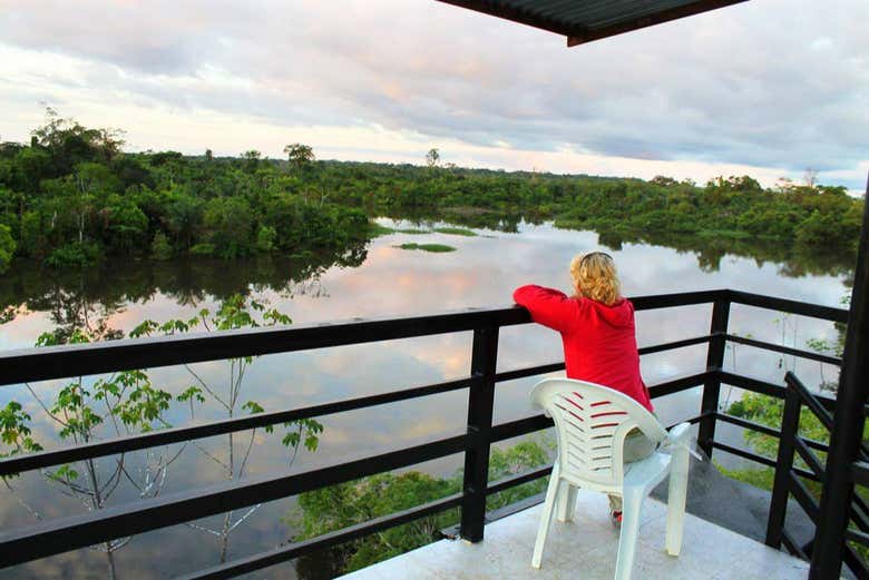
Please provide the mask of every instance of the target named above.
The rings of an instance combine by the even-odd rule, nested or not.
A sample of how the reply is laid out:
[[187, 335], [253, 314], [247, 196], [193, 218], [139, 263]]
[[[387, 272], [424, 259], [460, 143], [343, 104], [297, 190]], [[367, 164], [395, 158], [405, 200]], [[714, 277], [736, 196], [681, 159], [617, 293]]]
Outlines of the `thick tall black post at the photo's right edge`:
[[869, 267], [866, 263], [869, 259], [869, 179], [866, 193], [842, 371], [839, 375], [830, 451], [824, 470], [827, 478], [821, 492], [812, 566], [809, 569], [810, 580], [839, 578], [841, 573], [844, 532], [848, 529], [853, 494], [851, 465], [857, 459], [863, 436], [863, 405], [869, 395], [869, 357], [866, 355], [869, 351]]

